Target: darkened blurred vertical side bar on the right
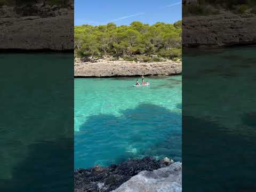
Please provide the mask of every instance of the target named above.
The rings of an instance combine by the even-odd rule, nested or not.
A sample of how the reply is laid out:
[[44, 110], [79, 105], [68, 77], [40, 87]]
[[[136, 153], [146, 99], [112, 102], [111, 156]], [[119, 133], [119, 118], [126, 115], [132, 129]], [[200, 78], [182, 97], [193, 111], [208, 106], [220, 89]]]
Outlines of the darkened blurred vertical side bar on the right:
[[182, 190], [256, 191], [256, 3], [182, 3]]

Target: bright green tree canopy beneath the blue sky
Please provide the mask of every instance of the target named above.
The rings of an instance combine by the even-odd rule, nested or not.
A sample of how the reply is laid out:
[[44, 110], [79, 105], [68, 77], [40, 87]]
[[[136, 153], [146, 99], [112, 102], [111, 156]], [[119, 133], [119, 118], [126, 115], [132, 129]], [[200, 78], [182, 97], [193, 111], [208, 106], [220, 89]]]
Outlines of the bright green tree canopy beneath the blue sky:
[[107, 25], [75, 26], [77, 57], [132, 58], [134, 55], [163, 58], [181, 57], [181, 21], [174, 24], [157, 22], [155, 25], [134, 21], [130, 26]]

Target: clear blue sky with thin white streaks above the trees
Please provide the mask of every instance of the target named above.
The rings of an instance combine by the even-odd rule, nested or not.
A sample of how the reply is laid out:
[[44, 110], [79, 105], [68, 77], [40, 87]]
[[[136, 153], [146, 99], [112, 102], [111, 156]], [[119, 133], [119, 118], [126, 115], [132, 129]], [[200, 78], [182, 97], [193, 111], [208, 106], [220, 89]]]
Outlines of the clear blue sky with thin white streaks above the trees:
[[75, 0], [75, 26], [130, 25], [141, 21], [150, 25], [181, 20], [181, 0]]

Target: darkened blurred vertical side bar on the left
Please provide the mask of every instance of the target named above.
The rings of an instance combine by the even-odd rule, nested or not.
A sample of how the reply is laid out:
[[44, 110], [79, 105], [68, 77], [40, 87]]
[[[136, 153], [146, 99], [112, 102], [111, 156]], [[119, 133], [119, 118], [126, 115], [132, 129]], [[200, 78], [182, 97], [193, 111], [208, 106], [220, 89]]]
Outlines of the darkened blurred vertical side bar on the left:
[[0, 1], [0, 191], [74, 190], [74, 2]]

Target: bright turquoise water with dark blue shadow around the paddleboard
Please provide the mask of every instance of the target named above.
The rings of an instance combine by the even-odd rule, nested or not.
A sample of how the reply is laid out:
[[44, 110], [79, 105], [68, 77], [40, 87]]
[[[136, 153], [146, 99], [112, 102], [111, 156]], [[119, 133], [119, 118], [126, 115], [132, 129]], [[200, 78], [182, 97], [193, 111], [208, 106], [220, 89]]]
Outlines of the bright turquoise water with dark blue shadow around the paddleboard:
[[75, 79], [75, 169], [155, 156], [181, 161], [181, 76]]

